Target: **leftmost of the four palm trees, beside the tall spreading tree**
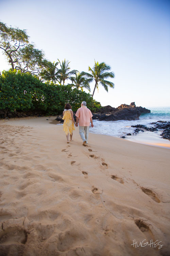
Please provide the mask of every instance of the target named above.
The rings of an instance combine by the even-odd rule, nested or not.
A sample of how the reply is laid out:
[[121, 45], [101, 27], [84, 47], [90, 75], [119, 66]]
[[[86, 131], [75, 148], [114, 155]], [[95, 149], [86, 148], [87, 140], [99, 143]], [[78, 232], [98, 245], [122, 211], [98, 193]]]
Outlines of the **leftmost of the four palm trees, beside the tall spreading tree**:
[[47, 67], [41, 72], [41, 77], [46, 81], [51, 81], [54, 83], [58, 80], [58, 65], [59, 62], [50, 62], [48, 61]]

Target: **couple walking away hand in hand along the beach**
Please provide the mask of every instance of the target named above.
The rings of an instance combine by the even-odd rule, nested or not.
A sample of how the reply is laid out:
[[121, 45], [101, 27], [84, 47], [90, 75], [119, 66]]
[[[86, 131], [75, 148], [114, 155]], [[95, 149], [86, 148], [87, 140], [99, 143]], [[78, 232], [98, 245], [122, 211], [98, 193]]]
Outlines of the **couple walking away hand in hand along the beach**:
[[[79, 122], [79, 134], [83, 140], [83, 146], [85, 146], [85, 144], [88, 143], [88, 132], [89, 132], [90, 122], [91, 122], [91, 127], [93, 127], [93, 120], [92, 120], [93, 115], [91, 111], [87, 108], [85, 101], [82, 101], [81, 108], [77, 110], [75, 116], [76, 116], [76, 123], [74, 121], [71, 105], [67, 103], [65, 105], [65, 110], [63, 111], [63, 118], [62, 118], [64, 119], [63, 131], [66, 133], [67, 143], [69, 143], [70, 141], [72, 141], [72, 136], [73, 136], [72, 131], [75, 130], [74, 125], [78, 127], [78, 122]], [[70, 136], [70, 141], [69, 141], [69, 136]]]

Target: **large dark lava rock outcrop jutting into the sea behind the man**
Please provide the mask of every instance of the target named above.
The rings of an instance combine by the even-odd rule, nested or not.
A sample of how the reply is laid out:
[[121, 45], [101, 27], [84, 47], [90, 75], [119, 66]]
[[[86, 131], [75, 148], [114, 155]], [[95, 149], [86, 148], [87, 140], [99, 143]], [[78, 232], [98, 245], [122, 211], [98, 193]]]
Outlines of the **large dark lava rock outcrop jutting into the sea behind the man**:
[[98, 113], [93, 114], [92, 118], [99, 121], [138, 120], [143, 113], [151, 113], [151, 111], [141, 106], [136, 107], [135, 102], [132, 102], [130, 105], [121, 104], [117, 108], [104, 106]]

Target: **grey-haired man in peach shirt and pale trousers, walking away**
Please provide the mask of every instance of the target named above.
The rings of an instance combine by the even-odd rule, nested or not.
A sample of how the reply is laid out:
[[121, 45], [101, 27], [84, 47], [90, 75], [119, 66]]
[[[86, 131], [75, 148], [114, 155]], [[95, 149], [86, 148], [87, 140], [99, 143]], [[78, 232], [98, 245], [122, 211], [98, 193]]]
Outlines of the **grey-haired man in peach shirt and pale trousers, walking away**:
[[91, 122], [91, 127], [93, 127], [92, 113], [86, 107], [86, 102], [82, 101], [81, 108], [79, 108], [75, 114], [76, 116], [76, 126], [78, 126], [79, 121], [79, 134], [83, 140], [83, 146], [88, 143], [88, 131]]

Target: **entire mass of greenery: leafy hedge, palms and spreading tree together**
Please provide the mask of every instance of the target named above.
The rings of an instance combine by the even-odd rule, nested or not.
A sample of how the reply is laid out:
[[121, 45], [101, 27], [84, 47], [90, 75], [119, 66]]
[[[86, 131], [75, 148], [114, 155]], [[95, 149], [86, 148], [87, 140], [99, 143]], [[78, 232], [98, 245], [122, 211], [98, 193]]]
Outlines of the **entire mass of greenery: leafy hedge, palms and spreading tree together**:
[[[114, 88], [114, 83], [106, 80], [108, 77], [114, 78], [114, 72], [108, 72], [111, 67], [104, 62], [95, 61], [94, 67], [88, 68], [90, 73], [70, 70], [70, 62], [66, 59], [52, 63], [45, 59], [42, 50], [29, 42], [25, 29], [8, 27], [2, 22], [0, 49], [11, 65], [10, 71], [0, 73], [0, 109], [40, 109], [49, 114], [58, 114], [67, 102], [76, 110], [82, 101], [86, 101], [91, 111], [96, 111], [101, 105], [93, 100], [95, 89], [99, 84], [106, 91], [108, 86]], [[72, 84], [65, 85], [68, 80]], [[93, 81], [95, 88], [91, 96], [83, 89], [90, 92], [90, 83]]]

